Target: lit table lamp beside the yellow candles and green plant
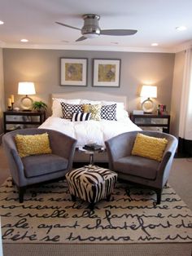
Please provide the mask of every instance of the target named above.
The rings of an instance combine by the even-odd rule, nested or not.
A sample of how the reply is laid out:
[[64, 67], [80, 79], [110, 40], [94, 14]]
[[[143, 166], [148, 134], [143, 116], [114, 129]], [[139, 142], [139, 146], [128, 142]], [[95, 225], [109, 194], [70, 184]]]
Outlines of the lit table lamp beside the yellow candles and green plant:
[[33, 82], [19, 82], [18, 84], [18, 95], [25, 95], [20, 100], [21, 108], [23, 111], [31, 111], [33, 99], [28, 97], [28, 95], [35, 95], [35, 86]]

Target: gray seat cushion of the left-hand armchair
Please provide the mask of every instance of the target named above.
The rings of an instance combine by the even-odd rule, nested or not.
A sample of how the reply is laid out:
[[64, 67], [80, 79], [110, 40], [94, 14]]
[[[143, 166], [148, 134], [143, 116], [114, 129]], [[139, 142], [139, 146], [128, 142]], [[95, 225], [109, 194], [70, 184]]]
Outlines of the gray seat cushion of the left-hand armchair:
[[24, 164], [24, 174], [27, 178], [66, 170], [68, 167], [67, 159], [54, 154], [24, 157], [22, 161]]

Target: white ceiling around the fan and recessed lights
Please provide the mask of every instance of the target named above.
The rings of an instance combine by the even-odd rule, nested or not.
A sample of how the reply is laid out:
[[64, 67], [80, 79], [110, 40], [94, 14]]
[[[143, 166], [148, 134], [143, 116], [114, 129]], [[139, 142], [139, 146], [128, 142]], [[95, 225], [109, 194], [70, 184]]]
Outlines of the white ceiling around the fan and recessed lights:
[[[101, 29], [137, 33], [75, 42], [81, 31], [55, 24], [81, 28], [86, 13], [101, 15]], [[176, 52], [192, 42], [192, 0], [0, 0], [0, 20], [2, 47]], [[187, 30], [178, 32], [180, 25]]]

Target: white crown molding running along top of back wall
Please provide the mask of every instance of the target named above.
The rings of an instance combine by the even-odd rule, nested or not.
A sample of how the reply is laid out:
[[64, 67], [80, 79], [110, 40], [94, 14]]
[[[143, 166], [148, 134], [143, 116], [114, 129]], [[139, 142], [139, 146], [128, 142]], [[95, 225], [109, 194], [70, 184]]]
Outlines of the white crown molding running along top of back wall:
[[76, 51], [127, 51], [127, 52], [160, 52], [174, 53], [174, 49], [160, 47], [121, 47], [121, 46], [76, 46], [76, 45], [37, 45], [37, 44], [4, 44], [3, 48], [76, 50]]

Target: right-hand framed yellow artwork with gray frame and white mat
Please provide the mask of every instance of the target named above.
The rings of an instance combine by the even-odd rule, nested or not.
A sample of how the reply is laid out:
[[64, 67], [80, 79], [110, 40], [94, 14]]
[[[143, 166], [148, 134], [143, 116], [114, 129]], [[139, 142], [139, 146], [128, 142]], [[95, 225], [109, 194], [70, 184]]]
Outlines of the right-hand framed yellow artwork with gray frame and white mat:
[[120, 87], [120, 59], [94, 59], [93, 86]]

